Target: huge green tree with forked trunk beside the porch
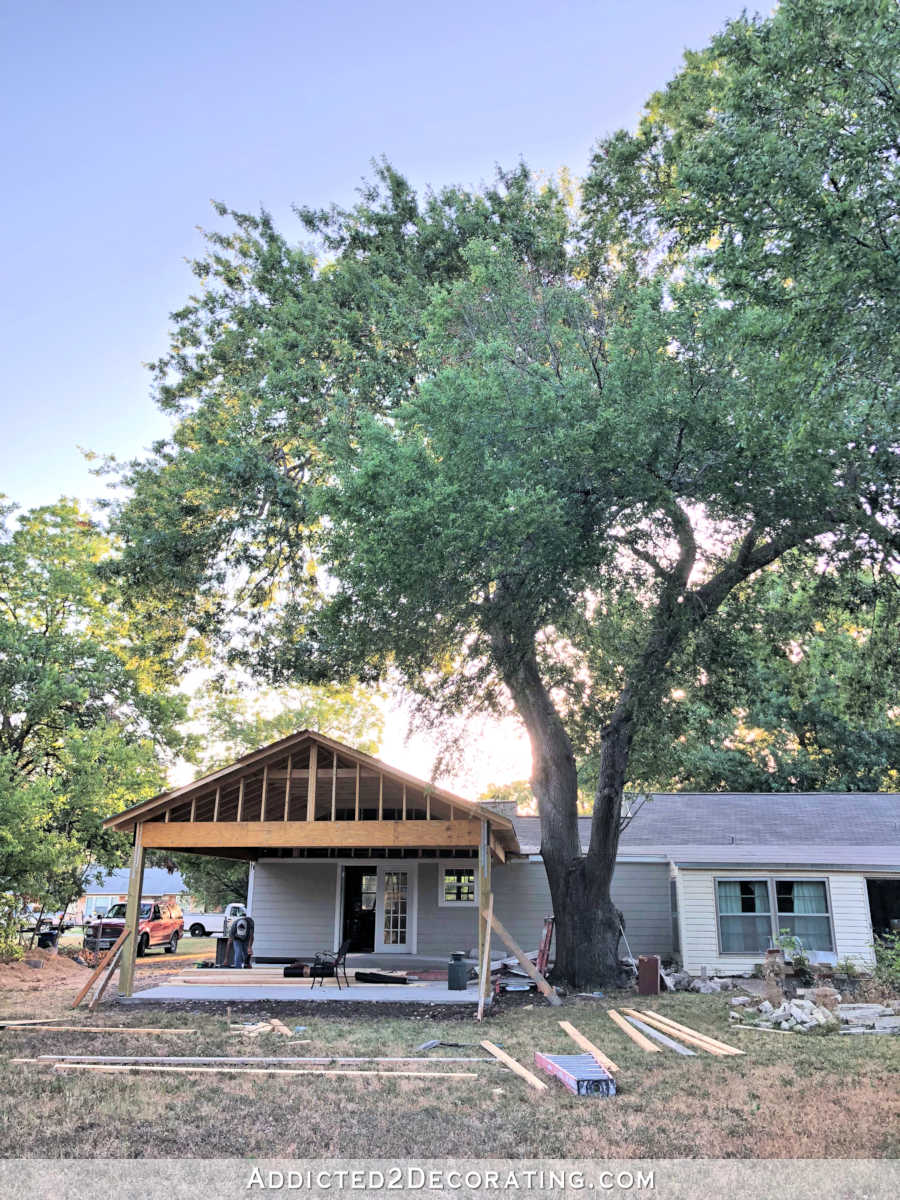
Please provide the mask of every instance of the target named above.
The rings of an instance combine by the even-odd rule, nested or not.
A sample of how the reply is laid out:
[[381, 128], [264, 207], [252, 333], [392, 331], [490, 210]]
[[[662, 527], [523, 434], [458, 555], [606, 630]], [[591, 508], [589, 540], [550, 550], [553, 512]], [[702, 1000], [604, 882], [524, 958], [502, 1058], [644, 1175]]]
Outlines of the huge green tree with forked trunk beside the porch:
[[[726, 42], [790, 44], [797, 7]], [[778, 206], [768, 236], [742, 235], [752, 209], [725, 212], [731, 160], [707, 150], [731, 116], [702, 89], [727, 114], [766, 76], [715, 53], [696, 83], [689, 65], [696, 103], [600, 148], [583, 217], [524, 168], [419, 200], [386, 166], [354, 209], [300, 211], [313, 250], [230, 214], [157, 365], [173, 438], [133, 464], [120, 516], [136, 590], [269, 678], [392, 668], [436, 712], [515, 709], [577, 986], [616, 977], [631, 750], [695, 677], [701, 631], [752, 619], [748, 582], [788, 553], [856, 571], [894, 536], [893, 343], [848, 353], [860, 306], [890, 301], [884, 276], [857, 271], [852, 319], [821, 329], [806, 300], [817, 246], [836, 288], [830, 224], [811, 212], [802, 253]], [[840, 58], [809, 70], [868, 85]], [[719, 162], [691, 176], [691, 203], [722, 210], [696, 247], [671, 214], [678, 155]], [[878, 196], [893, 169], [872, 173]], [[582, 853], [572, 733], [590, 726]]]

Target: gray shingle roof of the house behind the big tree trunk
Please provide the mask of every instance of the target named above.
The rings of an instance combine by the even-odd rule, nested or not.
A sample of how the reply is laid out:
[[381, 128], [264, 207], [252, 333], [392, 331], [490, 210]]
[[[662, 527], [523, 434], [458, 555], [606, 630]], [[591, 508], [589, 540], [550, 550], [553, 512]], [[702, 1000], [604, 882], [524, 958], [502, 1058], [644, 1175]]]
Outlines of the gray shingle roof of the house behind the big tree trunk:
[[[516, 817], [523, 853], [538, 853], [540, 822]], [[582, 847], [590, 821], [578, 821]], [[778, 859], [770, 858], [778, 854]], [[666, 792], [637, 808], [619, 857], [683, 860], [853, 863], [900, 870], [896, 792]], [[876, 863], [877, 860], [877, 863]]]

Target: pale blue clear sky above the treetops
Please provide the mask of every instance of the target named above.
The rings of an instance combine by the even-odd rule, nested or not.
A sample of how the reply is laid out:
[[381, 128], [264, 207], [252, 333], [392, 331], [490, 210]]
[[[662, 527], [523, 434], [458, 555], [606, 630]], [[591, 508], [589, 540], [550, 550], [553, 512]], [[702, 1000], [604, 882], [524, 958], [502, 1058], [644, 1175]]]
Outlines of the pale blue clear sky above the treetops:
[[382, 154], [416, 186], [520, 157], [580, 175], [740, 7], [4, 0], [0, 492], [98, 496], [79, 445], [130, 457], [164, 432], [142, 362], [211, 198], [289, 226]]

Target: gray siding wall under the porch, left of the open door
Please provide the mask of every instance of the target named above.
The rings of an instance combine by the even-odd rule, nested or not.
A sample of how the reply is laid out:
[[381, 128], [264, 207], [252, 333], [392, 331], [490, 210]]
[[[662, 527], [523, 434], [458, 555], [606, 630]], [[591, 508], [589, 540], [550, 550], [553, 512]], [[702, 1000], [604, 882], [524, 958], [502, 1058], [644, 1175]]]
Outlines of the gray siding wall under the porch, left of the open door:
[[336, 889], [336, 863], [257, 863], [253, 954], [260, 959], [292, 959], [332, 949]]

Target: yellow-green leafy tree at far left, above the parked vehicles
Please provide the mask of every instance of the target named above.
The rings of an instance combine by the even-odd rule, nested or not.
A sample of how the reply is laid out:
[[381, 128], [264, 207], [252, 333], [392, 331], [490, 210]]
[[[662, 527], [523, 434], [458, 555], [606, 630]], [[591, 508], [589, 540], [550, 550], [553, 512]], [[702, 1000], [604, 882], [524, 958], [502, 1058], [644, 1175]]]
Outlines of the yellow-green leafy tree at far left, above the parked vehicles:
[[76, 503], [0, 535], [0, 890], [65, 906], [124, 860], [104, 817], [155, 794], [181, 744], [174, 664], [100, 575], [110, 538]]

